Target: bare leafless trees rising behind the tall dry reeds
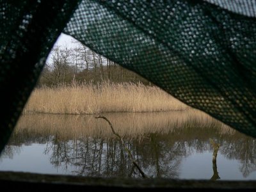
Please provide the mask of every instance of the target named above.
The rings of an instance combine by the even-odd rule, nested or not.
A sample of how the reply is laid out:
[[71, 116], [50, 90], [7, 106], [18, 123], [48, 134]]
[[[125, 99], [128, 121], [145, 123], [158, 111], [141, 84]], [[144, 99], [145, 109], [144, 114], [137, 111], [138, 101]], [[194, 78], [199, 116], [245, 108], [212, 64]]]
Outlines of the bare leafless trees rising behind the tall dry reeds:
[[45, 64], [38, 86], [54, 86], [76, 82], [99, 83], [138, 82], [150, 84], [138, 74], [127, 70], [115, 62], [104, 58], [88, 47], [73, 42], [74, 47], [55, 45], [51, 51], [51, 58]]

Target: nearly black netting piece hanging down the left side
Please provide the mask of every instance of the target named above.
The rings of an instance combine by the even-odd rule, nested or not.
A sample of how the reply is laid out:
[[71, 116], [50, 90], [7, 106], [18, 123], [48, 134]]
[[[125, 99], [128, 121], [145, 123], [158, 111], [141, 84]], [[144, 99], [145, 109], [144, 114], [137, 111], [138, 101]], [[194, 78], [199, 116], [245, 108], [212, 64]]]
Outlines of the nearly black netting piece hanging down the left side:
[[77, 1], [0, 0], [0, 152]]

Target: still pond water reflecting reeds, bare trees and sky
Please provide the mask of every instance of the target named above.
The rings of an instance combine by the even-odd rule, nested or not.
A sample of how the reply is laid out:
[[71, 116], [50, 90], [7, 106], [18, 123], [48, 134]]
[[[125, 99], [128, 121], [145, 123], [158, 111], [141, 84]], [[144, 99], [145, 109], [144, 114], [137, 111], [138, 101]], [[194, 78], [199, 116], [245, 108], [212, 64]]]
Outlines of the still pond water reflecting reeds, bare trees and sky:
[[[193, 109], [107, 113], [147, 177], [256, 180], [256, 140]], [[216, 161], [210, 140], [220, 144]], [[0, 170], [141, 177], [108, 122], [93, 115], [22, 115]]]

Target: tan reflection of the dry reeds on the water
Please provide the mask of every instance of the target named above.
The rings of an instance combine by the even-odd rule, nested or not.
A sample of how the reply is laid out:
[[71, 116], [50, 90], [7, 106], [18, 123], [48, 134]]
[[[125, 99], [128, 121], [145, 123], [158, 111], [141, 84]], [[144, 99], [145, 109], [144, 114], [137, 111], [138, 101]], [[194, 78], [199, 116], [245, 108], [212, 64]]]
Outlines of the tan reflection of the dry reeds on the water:
[[[175, 132], [182, 134], [184, 129], [198, 132], [213, 132], [213, 134], [234, 134], [234, 129], [211, 118], [196, 109], [186, 111], [156, 112], [156, 113], [108, 113], [106, 116], [118, 134], [125, 138], [140, 138], [144, 134], [166, 134]], [[204, 132], [205, 131], [205, 132]], [[29, 132], [31, 134], [56, 135], [58, 138], [69, 139], [79, 137], [114, 138], [108, 122], [95, 119], [93, 115], [47, 115], [31, 114], [21, 116], [15, 133]], [[197, 133], [198, 133], [197, 132]], [[216, 133], [214, 133], [216, 132]]]

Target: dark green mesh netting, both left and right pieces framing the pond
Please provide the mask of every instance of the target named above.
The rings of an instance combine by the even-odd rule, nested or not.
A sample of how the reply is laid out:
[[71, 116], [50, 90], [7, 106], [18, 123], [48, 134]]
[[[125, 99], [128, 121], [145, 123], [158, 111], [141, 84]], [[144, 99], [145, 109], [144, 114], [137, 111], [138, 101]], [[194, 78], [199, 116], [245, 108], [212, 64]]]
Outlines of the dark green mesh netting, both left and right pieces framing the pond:
[[1, 2], [1, 149], [62, 30], [189, 106], [256, 137], [255, 1], [76, 5]]

